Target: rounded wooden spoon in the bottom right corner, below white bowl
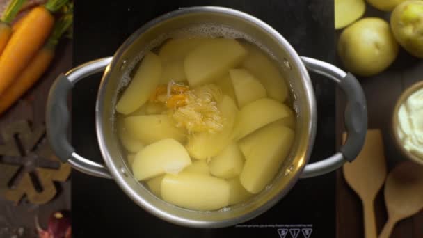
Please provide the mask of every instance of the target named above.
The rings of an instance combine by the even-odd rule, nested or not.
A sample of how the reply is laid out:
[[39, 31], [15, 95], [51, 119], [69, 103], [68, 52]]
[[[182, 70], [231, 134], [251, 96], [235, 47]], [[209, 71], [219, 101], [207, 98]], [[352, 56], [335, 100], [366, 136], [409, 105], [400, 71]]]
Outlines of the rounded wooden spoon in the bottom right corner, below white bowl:
[[379, 238], [388, 238], [394, 225], [423, 209], [423, 166], [406, 161], [395, 167], [385, 184], [388, 222]]

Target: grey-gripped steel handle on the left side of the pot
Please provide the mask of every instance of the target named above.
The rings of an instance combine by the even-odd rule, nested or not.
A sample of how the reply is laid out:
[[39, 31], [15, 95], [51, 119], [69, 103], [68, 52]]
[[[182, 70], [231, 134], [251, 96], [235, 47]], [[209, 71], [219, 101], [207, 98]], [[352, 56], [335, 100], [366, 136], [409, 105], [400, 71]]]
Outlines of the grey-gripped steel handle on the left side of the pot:
[[47, 139], [57, 157], [83, 173], [104, 178], [111, 178], [106, 166], [81, 157], [68, 141], [67, 129], [70, 113], [67, 108], [67, 95], [77, 81], [104, 71], [111, 60], [112, 57], [100, 58], [79, 65], [66, 74], [59, 75], [51, 85], [46, 113]]

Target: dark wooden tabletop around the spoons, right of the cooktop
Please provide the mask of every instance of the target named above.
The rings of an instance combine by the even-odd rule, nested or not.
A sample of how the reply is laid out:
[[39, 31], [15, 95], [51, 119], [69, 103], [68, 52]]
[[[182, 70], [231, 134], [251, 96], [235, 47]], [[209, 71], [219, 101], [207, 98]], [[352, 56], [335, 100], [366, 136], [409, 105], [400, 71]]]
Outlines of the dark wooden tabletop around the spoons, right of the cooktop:
[[[360, 77], [368, 106], [369, 129], [381, 129], [385, 145], [388, 170], [406, 158], [395, 148], [391, 134], [391, 118], [399, 95], [411, 84], [423, 80], [423, 61], [402, 50], [397, 60], [381, 74], [374, 77]], [[344, 99], [337, 92], [337, 146], [344, 131]], [[342, 171], [337, 171], [337, 237], [364, 237], [362, 204], [356, 193], [346, 184]], [[381, 232], [387, 220], [383, 189], [375, 200], [377, 230]], [[392, 238], [423, 237], [423, 211], [410, 219], [397, 223]]]

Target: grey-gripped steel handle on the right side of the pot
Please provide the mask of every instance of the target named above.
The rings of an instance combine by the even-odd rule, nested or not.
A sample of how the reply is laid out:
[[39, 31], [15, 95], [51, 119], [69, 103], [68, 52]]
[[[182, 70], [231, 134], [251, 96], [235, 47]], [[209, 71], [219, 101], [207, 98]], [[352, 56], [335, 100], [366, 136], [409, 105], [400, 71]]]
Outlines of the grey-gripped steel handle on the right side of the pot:
[[360, 153], [367, 133], [367, 104], [360, 83], [351, 73], [346, 73], [335, 65], [314, 58], [301, 57], [305, 67], [312, 72], [324, 75], [337, 83], [346, 95], [344, 120], [347, 132], [346, 142], [340, 151], [319, 162], [307, 164], [302, 178], [315, 177], [340, 168], [346, 161], [352, 162]]

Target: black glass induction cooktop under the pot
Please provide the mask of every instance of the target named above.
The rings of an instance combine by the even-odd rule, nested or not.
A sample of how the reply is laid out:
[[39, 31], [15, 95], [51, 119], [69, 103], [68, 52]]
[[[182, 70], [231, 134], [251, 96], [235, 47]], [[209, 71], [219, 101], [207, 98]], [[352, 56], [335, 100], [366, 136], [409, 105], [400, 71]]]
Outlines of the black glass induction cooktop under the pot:
[[[267, 22], [302, 56], [335, 60], [333, 0], [138, 1], [76, 0], [74, 65], [111, 56], [150, 19], [186, 6], [226, 6]], [[318, 104], [311, 161], [335, 152], [335, 87], [311, 74]], [[95, 136], [95, 97], [101, 75], [72, 92], [72, 143], [79, 154], [102, 162]], [[230, 228], [193, 229], [161, 221], [138, 207], [113, 180], [72, 173], [73, 237], [335, 237], [335, 173], [300, 180], [268, 212]]]

